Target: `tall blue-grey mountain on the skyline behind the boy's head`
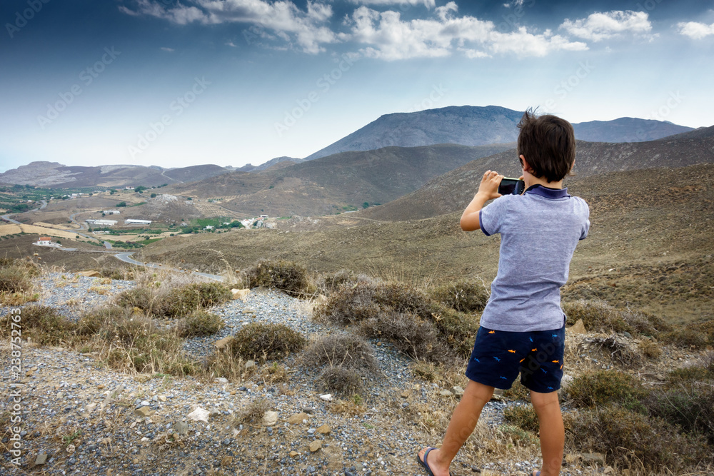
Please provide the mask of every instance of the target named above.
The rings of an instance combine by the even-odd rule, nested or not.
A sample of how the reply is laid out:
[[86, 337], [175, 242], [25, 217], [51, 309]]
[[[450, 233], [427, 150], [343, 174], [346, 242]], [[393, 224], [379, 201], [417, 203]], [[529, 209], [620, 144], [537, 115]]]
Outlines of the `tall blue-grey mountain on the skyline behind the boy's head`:
[[[306, 157], [307, 160], [345, 151], [368, 151], [385, 146], [429, 146], [458, 143], [481, 146], [513, 142], [523, 111], [500, 106], [448, 106], [413, 113], [386, 114], [358, 131]], [[583, 141], [639, 142], [691, 131], [664, 121], [619, 118], [613, 121], [573, 123]]]

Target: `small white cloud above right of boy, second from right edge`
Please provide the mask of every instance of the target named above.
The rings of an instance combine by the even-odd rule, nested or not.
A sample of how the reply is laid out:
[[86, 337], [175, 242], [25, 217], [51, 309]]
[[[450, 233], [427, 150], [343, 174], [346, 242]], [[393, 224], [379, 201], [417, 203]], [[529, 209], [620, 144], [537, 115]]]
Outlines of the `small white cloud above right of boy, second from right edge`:
[[652, 24], [645, 11], [613, 10], [590, 14], [586, 19], [565, 19], [560, 25], [569, 34], [595, 42], [620, 36], [625, 33], [652, 39]]

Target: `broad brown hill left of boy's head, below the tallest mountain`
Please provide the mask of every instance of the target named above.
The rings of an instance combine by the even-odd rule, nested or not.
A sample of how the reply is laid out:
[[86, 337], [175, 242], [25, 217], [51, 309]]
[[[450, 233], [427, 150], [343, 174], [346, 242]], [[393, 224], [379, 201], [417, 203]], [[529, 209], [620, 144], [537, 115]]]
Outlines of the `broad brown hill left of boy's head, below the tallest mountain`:
[[222, 207], [246, 215], [326, 215], [357, 210], [365, 202], [387, 203], [475, 158], [512, 147], [441, 144], [343, 152], [259, 173], [228, 173], [176, 185], [171, 193], [221, 197]]

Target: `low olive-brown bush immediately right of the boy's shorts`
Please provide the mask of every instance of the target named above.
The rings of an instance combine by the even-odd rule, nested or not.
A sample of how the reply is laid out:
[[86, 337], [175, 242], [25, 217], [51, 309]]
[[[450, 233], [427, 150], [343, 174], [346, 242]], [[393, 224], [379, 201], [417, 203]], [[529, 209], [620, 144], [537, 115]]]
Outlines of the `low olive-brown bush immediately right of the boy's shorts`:
[[616, 403], [641, 408], [647, 391], [638, 379], [618, 370], [583, 373], [568, 385], [568, 396], [578, 407], [596, 407]]

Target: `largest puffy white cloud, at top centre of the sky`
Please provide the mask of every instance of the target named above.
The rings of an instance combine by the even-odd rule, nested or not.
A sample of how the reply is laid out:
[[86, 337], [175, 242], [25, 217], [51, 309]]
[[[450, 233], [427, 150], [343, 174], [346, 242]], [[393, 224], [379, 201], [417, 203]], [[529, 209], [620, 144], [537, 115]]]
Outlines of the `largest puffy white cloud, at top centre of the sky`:
[[404, 21], [397, 11], [378, 12], [361, 6], [349, 23], [351, 38], [367, 45], [361, 49], [364, 56], [388, 61], [451, 56], [454, 51], [468, 58], [483, 58], [491, 54], [545, 56], [550, 51], [588, 49], [585, 43], [569, 41], [550, 30], [535, 34], [521, 27], [500, 33], [492, 21], [454, 16], [457, 10], [451, 1], [435, 10], [435, 19]]

